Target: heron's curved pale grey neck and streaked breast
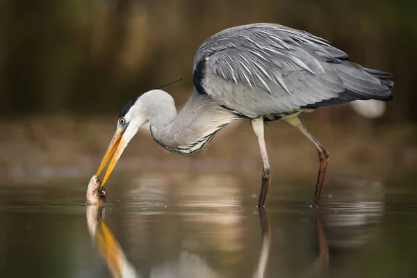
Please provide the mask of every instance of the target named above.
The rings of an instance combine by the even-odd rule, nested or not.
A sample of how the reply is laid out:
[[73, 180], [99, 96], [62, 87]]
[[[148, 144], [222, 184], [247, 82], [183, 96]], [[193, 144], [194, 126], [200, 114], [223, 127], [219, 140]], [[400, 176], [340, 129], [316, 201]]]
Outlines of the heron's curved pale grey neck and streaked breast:
[[[194, 93], [177, 114], [174, 104], [159, 104], [167, 113], [149, 116], [152, 137], [170, 152], [192, 154], [202, 151], [211, 138], [236, 116], [224, 111], [208, 97]], [[170, 107], [168, 107], [170, 106]]]

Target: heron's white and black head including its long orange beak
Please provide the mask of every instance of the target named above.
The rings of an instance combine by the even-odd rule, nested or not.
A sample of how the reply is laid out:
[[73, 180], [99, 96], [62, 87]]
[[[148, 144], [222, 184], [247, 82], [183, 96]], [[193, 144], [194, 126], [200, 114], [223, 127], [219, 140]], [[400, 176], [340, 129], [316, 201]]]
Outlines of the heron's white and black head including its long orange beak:
[[141, 109], [140, 106], [140, 97], [136, 97], [135, 99], [129, 101], [117, 116], [115, 134], [113, 135], [110, 145], [108, 145], [106, 154], [104, 154], [103, 160], [101, 161], [99, 169], [96, 172], [96, 175], [98, 176], [113, 155], [99, 189], [101, 189], [104, 186], [104, 183], [106, 183], [117, 161], [122, 155], [124, 148], [126, 148], [127, 144], [138, 132], [140, 126], [146, 124], [148, 121], [147, 117], [145, 117], [143, 113], [143, 109]]

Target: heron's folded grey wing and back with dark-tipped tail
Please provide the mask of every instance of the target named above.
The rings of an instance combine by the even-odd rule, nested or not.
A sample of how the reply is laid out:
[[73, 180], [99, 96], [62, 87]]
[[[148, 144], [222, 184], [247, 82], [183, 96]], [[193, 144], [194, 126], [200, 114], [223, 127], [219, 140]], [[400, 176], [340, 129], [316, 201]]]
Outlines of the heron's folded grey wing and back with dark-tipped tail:
[[213, 35], [197, 51], [194, 70], [197, 91], [247, 117], [391, 97], [390, 74], [351, 63], [325, 40], [278, 24]]

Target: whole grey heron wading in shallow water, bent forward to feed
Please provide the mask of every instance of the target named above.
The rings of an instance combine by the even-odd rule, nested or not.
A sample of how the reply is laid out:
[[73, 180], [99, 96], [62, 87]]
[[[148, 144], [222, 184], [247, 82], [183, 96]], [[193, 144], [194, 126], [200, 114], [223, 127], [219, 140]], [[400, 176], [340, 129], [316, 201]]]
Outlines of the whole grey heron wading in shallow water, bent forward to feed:
[[258, 206], [264, 206], [272, 170], [264, 122], [285, 120], [318, 151], [320, 167], [313, 206], [318, 206], [329, 152], [301, 124], [298, 115], [322, 106], [362, 99], [391, 100], [391, 74], [350, 62], [345, 52], [305, 31], [279, 24], [248, 24], [208, 38], [195, 54], [194, 91], [177, 113], [174, 99], [151, 90], [129, 101], [117, 117], [97, 176], [111, 159], [101, 187], [138, 128], [149, 122], [159, 145], [178, 154], [202, 151], [224, 126], [250, 120], [263, 161]]

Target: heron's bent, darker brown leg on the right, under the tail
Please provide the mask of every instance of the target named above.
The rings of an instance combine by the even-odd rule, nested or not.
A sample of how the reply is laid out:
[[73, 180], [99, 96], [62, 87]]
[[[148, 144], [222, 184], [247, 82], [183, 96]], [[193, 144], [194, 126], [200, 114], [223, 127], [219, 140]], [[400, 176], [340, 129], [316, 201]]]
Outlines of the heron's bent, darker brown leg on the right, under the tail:
[[300, 120], [298, 120], [297, 117], [291, 117], [286, 119], [286, 122], [289, 124], [297, 127], [301, 133], [306, 136], [307, 139], [309, 139], [314, 147], [316, 147], [318, 152], [318, 158], [320, 160], [320, 167], [318, 169], [318, 177], [317, 177], [317, 183], [316, 183], [316, 190], [314, 192], [314, 199], [313, 199], [313, 207], [318, 207], [318, 200], [320, 199], [320, 192], [322, 188], [323, 181], [325, 180], [325, 174], [327, 170], [327, 165], [329, 164], [329, 152], [327, 152], [327, 149], [325, 149], [316, 138], [314, 138], [311, 133], [302, 125]]

